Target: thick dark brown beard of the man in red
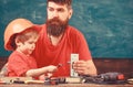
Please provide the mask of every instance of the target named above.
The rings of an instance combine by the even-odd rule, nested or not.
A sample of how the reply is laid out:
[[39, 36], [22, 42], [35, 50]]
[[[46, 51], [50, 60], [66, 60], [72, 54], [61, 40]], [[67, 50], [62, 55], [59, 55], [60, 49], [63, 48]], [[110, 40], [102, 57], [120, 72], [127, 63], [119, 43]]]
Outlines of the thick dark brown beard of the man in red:
[[69, 19], [61, 21], [58, 18], [47, 20], [47, 33], [53, 36], [60, 36], [68, 26]]

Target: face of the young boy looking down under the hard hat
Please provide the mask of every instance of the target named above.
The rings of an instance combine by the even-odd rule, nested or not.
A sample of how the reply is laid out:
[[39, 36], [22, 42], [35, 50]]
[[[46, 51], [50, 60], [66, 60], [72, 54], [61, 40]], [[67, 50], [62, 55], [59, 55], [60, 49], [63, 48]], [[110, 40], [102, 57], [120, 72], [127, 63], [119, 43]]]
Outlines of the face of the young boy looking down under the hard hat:
[[17, 50], [21, 51], [25, 55], [30, 55], [33, 52], [33, 50], [35, 48], [37, 40], [38, 40], [37, 36], [31, 36], [28, 41], [25, 41], [23, 43], [19, 42], [21, 45], [18, 46]]

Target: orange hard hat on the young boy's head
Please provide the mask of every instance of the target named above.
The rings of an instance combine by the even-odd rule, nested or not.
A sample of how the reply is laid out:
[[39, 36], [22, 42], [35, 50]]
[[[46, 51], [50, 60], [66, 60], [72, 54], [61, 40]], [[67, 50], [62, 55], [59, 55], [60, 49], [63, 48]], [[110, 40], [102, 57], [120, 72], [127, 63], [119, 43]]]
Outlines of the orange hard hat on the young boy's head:
[[22, 31], [29, 29], [29, 28], [34, 28], [35, 30], [40, 30], [39, 25], [33, 24], [31, 21], [27, 19], [16, 19], [11, 21], [8, 26], [6, 28], [4, 31], [4, 48], [8, 51], [13, 51], [11, 46], [11, 37], [17, 34], [21, 33]]

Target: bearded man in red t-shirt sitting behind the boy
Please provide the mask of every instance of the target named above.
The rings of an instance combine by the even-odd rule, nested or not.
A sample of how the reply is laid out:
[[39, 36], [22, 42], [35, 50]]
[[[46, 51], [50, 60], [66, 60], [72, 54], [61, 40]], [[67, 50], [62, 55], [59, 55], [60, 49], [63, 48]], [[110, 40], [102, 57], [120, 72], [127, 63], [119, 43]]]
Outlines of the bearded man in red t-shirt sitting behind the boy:
[[38, 67], [62, 65], [53, 77], [70, 76], [71, 54], [79, 54], [73, 69], [79, 75], [96, 75], [91, 52], [83, 34], [69, 25], [72, 17], [72, 0], [47, 0], [47, 21], [41, 25], [40, 37], [33, 56]]

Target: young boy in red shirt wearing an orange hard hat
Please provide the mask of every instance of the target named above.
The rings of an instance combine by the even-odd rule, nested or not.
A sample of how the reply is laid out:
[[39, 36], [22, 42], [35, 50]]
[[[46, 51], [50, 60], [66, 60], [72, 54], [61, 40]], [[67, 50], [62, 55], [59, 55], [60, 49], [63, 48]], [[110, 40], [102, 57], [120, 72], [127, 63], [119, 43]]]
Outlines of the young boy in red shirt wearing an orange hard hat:
[[4, 47], [13, 52], [8, 58], [8, 76], [39, 78], [57, 70], [53, 65], [37, 68], [37, 62], [31, 56], [39, 31], [38, 25], [25, 19], [16, 19], [9, 23], [4, 31]]

